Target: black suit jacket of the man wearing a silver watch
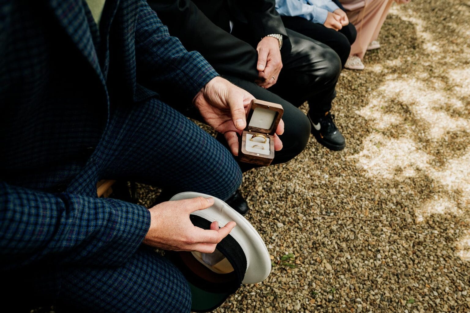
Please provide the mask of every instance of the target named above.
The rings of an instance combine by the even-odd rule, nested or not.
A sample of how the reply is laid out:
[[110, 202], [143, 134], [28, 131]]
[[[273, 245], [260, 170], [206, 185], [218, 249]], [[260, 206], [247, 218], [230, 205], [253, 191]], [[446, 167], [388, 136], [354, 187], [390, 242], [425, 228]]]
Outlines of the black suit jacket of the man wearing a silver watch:
[[[172, 36], [199, 51], [221, 74], [258, 78], [256, 46], [271, 33], [282, 34], [282, 55], [290, 41], [274, 0], [148, 0]], [[229, 21], [234, 23], [229, 33]]]

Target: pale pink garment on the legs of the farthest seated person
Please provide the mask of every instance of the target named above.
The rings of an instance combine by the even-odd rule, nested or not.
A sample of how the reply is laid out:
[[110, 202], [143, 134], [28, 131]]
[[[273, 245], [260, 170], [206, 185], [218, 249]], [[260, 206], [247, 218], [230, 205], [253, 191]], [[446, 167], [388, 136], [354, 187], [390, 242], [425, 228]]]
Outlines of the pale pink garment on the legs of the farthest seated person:
[[364, 58], [369, 43], [378, 38], [393, 1], [408, 3], [410, 0], [340, 0], [346, 9], [349, 23], [357, 30], [356, 41], [351, 46], [351, 56]]

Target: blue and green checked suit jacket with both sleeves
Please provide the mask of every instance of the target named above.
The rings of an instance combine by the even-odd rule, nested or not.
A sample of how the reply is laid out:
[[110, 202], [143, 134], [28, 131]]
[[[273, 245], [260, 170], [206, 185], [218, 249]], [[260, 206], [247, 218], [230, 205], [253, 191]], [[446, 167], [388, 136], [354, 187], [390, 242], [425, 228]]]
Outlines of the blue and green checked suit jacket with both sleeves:
[[124, 263], [149, 211], [55, 187], [83, 168], [112, 110], [158, 94], [183, 110], [217, 75], [145, 0], [107, 0], [99, 41], [84, 3], [0, 0], [0, 271]]

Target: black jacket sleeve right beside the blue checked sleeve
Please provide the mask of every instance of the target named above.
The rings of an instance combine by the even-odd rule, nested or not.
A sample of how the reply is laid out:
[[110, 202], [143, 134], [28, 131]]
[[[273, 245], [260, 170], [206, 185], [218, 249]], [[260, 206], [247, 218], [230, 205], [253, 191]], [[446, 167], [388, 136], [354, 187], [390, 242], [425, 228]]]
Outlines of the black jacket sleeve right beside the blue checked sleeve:
[[[221, 74], [258, 78], [258, 53], [247, 42], [211, 22], [190, 0], [149, 0], [149, 5], [185, 48], [200, 52]], [[227, 25], [228, 26], [228, 25]]]

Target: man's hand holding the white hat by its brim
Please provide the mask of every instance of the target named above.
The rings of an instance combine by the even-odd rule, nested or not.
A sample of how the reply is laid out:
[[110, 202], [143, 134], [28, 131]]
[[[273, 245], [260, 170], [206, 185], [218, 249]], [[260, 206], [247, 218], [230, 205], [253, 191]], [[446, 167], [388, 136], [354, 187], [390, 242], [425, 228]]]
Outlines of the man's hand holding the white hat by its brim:
[[204, 230], [189, 219], [190, 213], [207, 209], [213, 203], [212, 198], [197, 197], [157, 204], [149, 209], [150, 229], [143, 243], [166, 250], [214, 252], [217, 244], [235, 227], [235, 222], [228, 222], [222, 228], [218, 222], [212, 222], [211, 229]]

